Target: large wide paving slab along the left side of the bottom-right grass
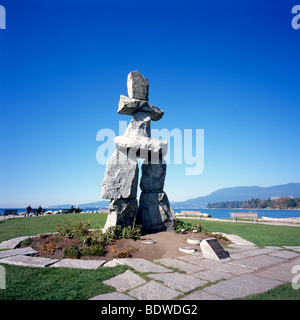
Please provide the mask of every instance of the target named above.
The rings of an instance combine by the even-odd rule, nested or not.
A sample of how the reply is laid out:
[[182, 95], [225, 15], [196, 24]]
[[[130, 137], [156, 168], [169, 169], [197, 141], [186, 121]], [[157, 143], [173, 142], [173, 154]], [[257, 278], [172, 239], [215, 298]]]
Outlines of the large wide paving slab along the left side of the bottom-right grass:
[[261, 293], [273, 289], [282, 282], [263, 278], [254, 274], [243, 274], [228, 280], [218, 282], [204, 288], [209, 294], [218, 295], [226, 299], [243, 298], [254, 293]]

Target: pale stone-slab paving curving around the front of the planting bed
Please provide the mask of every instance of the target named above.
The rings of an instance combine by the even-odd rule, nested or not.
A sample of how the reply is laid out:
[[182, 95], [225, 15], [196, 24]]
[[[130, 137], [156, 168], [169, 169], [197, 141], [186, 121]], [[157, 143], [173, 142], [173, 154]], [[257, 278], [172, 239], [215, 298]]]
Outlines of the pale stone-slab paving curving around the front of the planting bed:
[[[115, 292], [91, 300], [226, 300], [243, 298], [292, 282], [294, 266], [300, 266], [300, 246], [258, 248], [236, 235], [226, 235], [234, 244], [228, 249], [231, 260], [218, 262], [203, 257], [201, 252], [181, 254], [150, 262], [144, 259], [114, 259], [114, 264], [132, 268], [104, 281]], [[30, 248], [14, 249], [23, 237], [2, 242], [0, 263], [35, 267], [71, 267], [96, 269], [105, 261], [46, 259], [32, 257]], [[199, 248], [200, 251], [200, 248]], [[141, 274], [142, 273], [142, 274]], [[300, 289], [299, 289], [300, 290]]]

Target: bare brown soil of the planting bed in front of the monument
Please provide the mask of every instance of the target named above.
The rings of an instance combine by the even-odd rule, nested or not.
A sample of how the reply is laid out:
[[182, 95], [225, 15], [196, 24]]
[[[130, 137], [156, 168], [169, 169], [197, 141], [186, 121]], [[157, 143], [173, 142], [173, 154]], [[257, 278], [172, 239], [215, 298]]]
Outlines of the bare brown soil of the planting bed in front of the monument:
[[[158, 232], [144, 235], [138, 240], [112, 240], [105, 246], [106, 254], [104, 256], [82, 256], [80, 259], [110, 261], [116, 258], [116, 254], [122, 254], [122, 252], [125, 254], [129, 252], [131, 258], [143, 258], [146, 260], [174, 258], [184, 255], [184, 253], [179, 251], [179, 247], [181, 246], [193, 247], [197, 251], [200, 251], [199, 245], [187, 243], [188, 238], [202, 240], [211, 237], [211, 234], [205, 234], [203, 232], [188, 232], [185, 234], [177, 234], [174, 231]], [[142, 240], [145, 239], [155, 240], [156, 243], [143, 243]], [[229, 240], [218, 239], [218, 241], [222, 246], [231, 244]], [[38, 251], [37, 256], [40, 257], [63, 259], [64, 249], [69, 248], [72, 244], [76, 244], [80, 249], [84, 248], [84, 245], [80, 243], [79, 239], [62, 238], [58, 241], [55, 234], [41, 235], [34, 238], [32, 242], [27, 245], [21, 244], [21, 247], [32, 247]]]

